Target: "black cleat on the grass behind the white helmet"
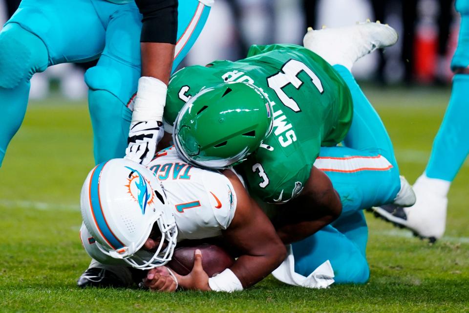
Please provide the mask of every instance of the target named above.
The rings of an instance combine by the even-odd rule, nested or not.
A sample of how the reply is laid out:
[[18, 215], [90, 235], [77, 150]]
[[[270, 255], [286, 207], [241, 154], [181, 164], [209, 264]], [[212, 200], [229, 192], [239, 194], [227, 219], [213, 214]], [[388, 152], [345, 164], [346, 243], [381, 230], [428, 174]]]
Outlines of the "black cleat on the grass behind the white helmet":
[[77, 282], [78, 287], [98, 287], [98, 288], [122, 288], [128, 287], [128, 284], [123, 282], [112, 271], [104, 268], [88, 268], [80, 276]]

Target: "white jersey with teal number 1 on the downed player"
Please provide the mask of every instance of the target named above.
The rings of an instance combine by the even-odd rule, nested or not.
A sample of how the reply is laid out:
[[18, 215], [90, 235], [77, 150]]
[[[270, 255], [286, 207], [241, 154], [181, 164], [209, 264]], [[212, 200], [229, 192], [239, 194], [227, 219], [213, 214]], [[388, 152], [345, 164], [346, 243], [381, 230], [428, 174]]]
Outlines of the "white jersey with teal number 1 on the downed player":
[[178, 241], [219, 236], [231, 224], [236, 195], [226, 176], [185, 163], [174, 147], [160, 151], [148, 168], [173, 210]]

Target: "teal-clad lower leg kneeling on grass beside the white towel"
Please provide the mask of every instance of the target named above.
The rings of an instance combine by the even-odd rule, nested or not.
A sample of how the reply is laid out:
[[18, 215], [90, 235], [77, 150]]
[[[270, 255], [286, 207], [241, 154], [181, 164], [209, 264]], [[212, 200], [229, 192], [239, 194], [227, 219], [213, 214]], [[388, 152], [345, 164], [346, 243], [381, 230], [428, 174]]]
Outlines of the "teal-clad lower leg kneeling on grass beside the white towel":
[[[354, 242], [332, 225], [328, 225], [316, 234], [292, 244], [295, 259], [295, 272], [309, 276], [322, 263], [329, 260], [334, 270], [336, 283], [364, 284], [370, 271], [364, 255], [367, 227], [364, 218], [353, 221], [358, 238]], [[360, 233], [361, 236], [358, 236]]]

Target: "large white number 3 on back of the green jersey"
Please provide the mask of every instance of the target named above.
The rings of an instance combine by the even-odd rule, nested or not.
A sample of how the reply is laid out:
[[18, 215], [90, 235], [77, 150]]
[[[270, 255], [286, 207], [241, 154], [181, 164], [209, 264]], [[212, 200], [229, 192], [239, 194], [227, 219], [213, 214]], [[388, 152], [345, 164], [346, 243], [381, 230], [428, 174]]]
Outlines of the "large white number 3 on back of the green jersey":
[[270, 88], [274, 89], [275, 93], [277, 93], [277, 97], [283, 105], [292, 109], [294, 112], [301, 112], [301, 109], [298, 107], [298, 103], [287, 96], [282, 88], [288, 84], [292, 84], [296, 89], [299, 89], [301, 85], [303, 85], [303, 82], [298, 78], [298, 74], [301, 71], [304, 71], [309, 77], [311, 77], [311, 81], [314, 86], [322, 94], [324, 92], [324, 88], [322, 88], [322, 83], [319, 77], [316, 76], [316, 74], [303, 62], [297, 60], [292, 59], [288, 61], [282, 66], [281, 72], [267, 78], [267, 84]]

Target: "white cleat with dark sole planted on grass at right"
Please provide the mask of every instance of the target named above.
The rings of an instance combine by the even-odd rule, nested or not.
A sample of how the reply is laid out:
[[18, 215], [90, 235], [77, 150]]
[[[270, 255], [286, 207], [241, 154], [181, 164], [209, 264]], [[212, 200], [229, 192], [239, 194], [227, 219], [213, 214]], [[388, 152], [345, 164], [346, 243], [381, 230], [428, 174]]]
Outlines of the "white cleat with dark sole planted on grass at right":
[[408, 228], [415, 236], [433, 243], [445, 233], [448, 188], [448, 181], [429, 179], [422, 175], [413, 186], [417, 198], [413, 206], [388, 204], [373, 210], [377, 217]]

